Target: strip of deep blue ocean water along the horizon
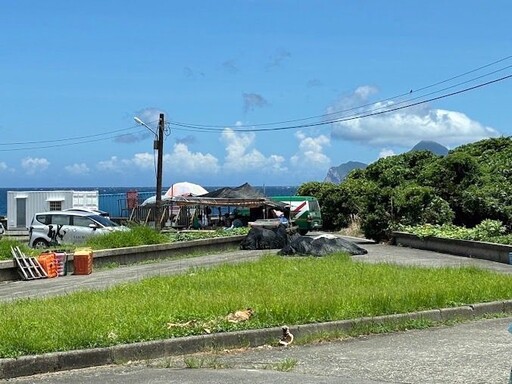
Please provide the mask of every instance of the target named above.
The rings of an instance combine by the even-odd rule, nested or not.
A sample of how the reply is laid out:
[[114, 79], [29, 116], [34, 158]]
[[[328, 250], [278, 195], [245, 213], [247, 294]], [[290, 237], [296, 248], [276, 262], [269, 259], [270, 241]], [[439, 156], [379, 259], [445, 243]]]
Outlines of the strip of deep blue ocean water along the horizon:
[[[204, 187], [208, 192], [215, 191], [216, 189], [224, 186], [211, 186]], [[295, 195], [297, 186], [253, 186], [265, 196], [279, 196], [279, 195]], [[7, 191], [98, 191], [100, 195], [109, 195], [117, 193], [126, 193], [128, 191], [138, 192], [152, 192], [155, 193], [154, 187], [61, 187], [61, 188], [0, 188], [0, 216], [7, 216]], [[162, 193], [165, 193], [163, 191]], [[99, 207], [101, 209], [101, 207]]]

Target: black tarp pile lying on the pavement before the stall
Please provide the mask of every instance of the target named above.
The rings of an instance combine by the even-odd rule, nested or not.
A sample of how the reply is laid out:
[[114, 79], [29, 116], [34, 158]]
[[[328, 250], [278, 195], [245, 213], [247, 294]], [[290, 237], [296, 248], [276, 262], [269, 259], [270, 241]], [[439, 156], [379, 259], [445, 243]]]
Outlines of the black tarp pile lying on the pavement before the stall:
[[253, 227], [240, 243], [240, 249], [280, 249], [279, 255], [325, 256], [336, 252], [364, 255], [368, 251], [334, 235], [300, 236], [284, 225], [275, 229]]

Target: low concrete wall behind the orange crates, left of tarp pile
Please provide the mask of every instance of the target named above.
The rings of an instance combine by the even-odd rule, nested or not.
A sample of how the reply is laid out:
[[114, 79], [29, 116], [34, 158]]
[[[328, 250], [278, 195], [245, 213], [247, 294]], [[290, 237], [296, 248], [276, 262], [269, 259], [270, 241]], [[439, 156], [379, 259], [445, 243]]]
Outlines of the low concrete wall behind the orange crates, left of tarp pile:
[[[214, 239], [182, 241], [170, 244], [142, 245], [116, 249], [94, 251], [93, 266], [99, 267], [111, 263], [133, 264], [145, 260], [168, 259], [194, 253], [222, 252], [240, 248], [245, 236], [229, 236]], [[68, 273], [73, 273], [73, 255], [69, 255]], [[0, 261], [0, 281], [20, 280], [14, 260]]]

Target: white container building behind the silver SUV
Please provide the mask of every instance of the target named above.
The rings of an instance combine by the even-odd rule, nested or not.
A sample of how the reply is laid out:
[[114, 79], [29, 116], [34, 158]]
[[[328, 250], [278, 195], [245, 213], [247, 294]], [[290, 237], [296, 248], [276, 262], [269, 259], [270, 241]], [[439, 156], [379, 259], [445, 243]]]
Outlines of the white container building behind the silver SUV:
[[38, 212], [98, 209], [98, 191], [7, 191], [7, 230], [26, 230]]

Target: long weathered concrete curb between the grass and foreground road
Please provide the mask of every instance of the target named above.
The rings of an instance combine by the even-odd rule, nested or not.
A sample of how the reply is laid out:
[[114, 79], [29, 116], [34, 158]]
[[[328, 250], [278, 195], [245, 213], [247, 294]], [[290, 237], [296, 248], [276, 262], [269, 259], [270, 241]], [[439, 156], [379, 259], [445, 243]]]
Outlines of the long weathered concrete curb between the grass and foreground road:
[[[425, 319], [443, 322], [448, 320], [471, 320], [487, 314], [509, 313], [512, 313], [512, 300], [389, 316], [296, 325], [291, 326], [290, 331], [297, 339], [319, 333], [349, 332], [358, 327], [390, 324], [404, 320]], [[280, 336], [281, 328], [274, 327], [0, 359], [0, 379], [123, 363], [130, 360], [183, 355], [214, 348], [257, 347], [265, 344], [276, 344]]]

